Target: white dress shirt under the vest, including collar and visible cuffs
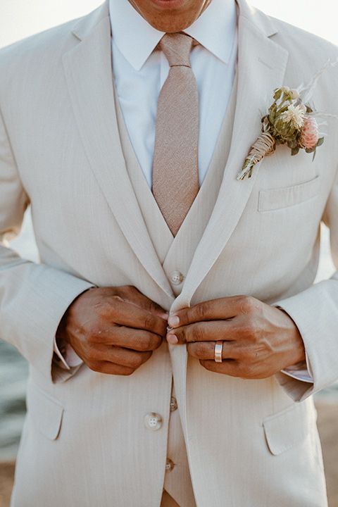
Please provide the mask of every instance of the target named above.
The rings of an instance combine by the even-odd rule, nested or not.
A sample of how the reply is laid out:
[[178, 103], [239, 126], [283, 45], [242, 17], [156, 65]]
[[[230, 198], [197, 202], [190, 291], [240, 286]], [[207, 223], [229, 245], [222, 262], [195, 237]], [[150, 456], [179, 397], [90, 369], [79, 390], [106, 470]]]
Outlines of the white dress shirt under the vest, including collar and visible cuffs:
[[[151, 188], [158, 95], [169, 65], [156, 49], [165, 34], [142, 18], [128, 0], [110, 0], [113, 77], [127, 132], [144, 177]], [[184, 30], [199, 45], [191, 54], [199, 90], [199, 182], [203, 182], [213, 156], [237, 65], [237, 5], [234, 0], [212, 0], [199, 18]], [[65, 368], [81, 360], [66, 347]], [[285, 371], [311, 382], [299, 366]]]

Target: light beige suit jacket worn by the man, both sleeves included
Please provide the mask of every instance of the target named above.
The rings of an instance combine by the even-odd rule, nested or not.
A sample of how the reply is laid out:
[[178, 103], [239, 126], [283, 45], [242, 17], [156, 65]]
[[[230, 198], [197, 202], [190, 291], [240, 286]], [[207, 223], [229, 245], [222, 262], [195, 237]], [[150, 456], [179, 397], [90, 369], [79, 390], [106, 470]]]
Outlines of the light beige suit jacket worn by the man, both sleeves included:
[[[0, 249], [1, 338], [30, 361], [12, 507], [159, 507], [173, 378], [196, 506], [327, 506], [311, 395], [338, 376], [338, 275], [313, 280], [322, 220], [338, 261], [337, 123], [328, 120], [315, 161], [280, 146], [251, 180], [236, 180], [273, 89], [307, 82], [327, 58], [337, 58], [335, 46], [239, 0], [230, 149], [223, 161], [220, 142], [214, 155], [223, 176], [213, 202], [199, 199], [201, 185], [165, 251], [121, 147], [108, 4], [0, 51], [0, 231], [16, 234], [31, 202], [41, 257], [35, 265]], [[337, 68], [327, 71], [318, 110], [338, 114], [337, 85]], [[130, 377], [51, 366], [75, 296], [122, 284], [170, 311], [233, 294], [279, 304], [301, 330], [313, 384], [217, 375], [165, 344]], [[149, 412], [162, 416], [157, 431], [144, 425]]]

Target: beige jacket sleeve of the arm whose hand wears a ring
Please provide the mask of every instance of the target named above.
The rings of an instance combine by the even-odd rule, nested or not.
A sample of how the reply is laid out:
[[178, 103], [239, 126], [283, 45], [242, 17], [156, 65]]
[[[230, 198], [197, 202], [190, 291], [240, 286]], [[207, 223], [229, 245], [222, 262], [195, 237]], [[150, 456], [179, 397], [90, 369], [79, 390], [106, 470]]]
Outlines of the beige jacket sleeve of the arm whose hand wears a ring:
[[[325, 206], [323, 222], [330, 229], [332, 259], [338, 267], [338, 177]], [[274, 306], [280, 306], [294, 320], [307, 354], [308, 370], [313, 384], [276, 375], [278, 382], [294, 401], [303, 401], [311, 394], [338, 380], [338, 270], [329, 280], [323, 280], [300, 294]]]

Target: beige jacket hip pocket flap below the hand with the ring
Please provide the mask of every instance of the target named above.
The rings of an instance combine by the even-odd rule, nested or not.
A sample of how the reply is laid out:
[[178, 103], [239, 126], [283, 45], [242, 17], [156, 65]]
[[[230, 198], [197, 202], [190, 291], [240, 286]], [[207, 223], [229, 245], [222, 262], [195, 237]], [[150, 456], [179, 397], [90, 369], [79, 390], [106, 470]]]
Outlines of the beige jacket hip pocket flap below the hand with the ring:
[[[270, 452], [277, 456], [306, 438], [311, 420], [315, 421], [315, 408], [308, 403], [295, 403], [263, 420], [266, 442]], [[312, 415], [312, 417], [311, 417]]]

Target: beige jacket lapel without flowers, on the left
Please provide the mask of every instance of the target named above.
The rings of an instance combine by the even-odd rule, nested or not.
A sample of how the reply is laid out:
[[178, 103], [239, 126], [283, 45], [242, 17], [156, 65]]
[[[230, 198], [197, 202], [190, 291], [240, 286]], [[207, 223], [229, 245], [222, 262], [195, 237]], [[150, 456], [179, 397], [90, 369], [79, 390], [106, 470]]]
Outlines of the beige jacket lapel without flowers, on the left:
[[135, 255], [158, 286], [172, 297], [172, 289], [137, 204], [120, 145], [113, 95], [108, 2], [80, 20], [73, 35], [80, 42], [63, 55], [63, 67], [89, 164]]

